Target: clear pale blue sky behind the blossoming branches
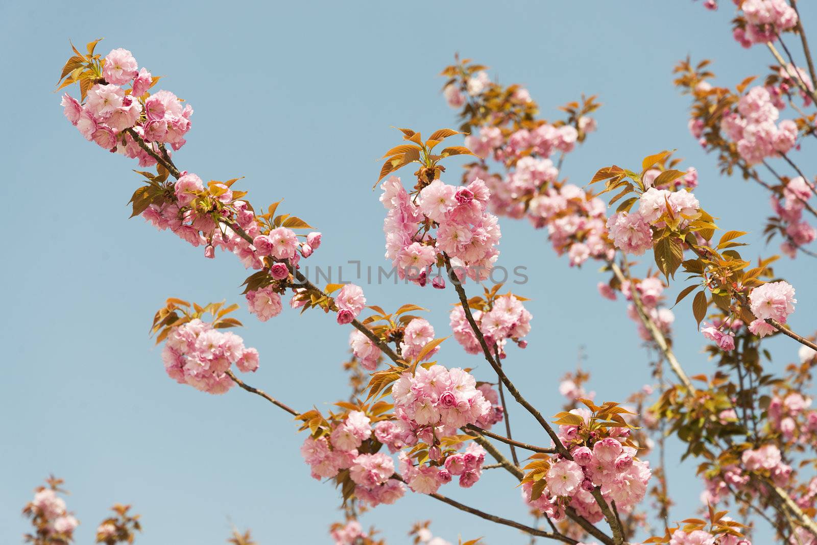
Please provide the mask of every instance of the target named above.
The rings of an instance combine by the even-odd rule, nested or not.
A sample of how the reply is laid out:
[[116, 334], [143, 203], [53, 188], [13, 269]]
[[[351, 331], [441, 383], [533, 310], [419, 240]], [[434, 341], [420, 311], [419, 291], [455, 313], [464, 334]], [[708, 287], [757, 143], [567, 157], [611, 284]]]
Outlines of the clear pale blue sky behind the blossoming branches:
[[[300, 215], [324, 233], [315, 264], [384, 264], [384, 210], [371, 191], [377, 157], [399, 143], [391, 126], [424, 132], [453, 126], [437, 73], [459, 51], [488, 64], [500, 82], [520, 82], [542, 116], [581, 93], [604, 107], [599, 132], [565, 162], [563, 174], [585, 184], [600, 166], [638, 165], [641, 157], [678, 148], [699, 169], [695, 192], [724, 228], [752, 232], [752, 257], [773, 253], [758, 233], [769, 215], [761, 188], [717, 175], [686, 130], [688, 101], [672, 86], [672, 65], [685, 55], [715, 60], [719, 81], [734, 84], [761, 73], [770, 57], [731, 38], [730, 2], [705, 11], [699, 2], [497, 2], [437, 5], [386, 2], [167, 2], [110, 6], [4, 2], [0, 7], [0, 94], [5, 158], [4, 266], [0, 269], [6, 346], [0, 381], [0, 543], [20, 543], [20, 508], [53, 472], [67, 481], [69, 507], [91, 543], [114, 502], [143, 516], [139, 543], [223, 543], [230, 524], [251, 527], [259, 543], [329, 543], [340, 520], [338, 494], [309, 476], [296, 426], [287, 414], [238, 389], [213, 397], [167, 379], [150, 320], [168, 296], [243, 302], [246, 276], [229, 255], [203, 259], [141, 219], [125, 203], [138, 177], [132, 162], [102, 153], [62, 117], [52, 93], [69, 56], [69, 38], [105, 37], [100, 51], [130, 49], [139, 63], [164, 75], [160, 87], [194, 106], [181, 168], [204, 179], [246, 176], [252, 202], [284, 197], [279, 210]], [[433, 6], [433, 7], [432, 7]], [[817, 9], [801, 5], [806, 29]], [[798, 154], [807, 172], [815, 161]], [[458, 179], [449, 169], [448, 181]], [[406, 175], [410, 175], [408, 172]], [[265, 205], [266, 206], [266, 205]], [[528, 268], [516, 291], [533, 299], [529, 348], [512, 350], [507, 371], [544, 413], [559, 410], [558, 379], [584, 346], [584, 368], [600, 400], [621, 400], [649, 382], [647, 354], [623, 304], [600, 300], [599, 275], [553, 254], [542, 231], [502, 219], [500, 264]], [[801, 258], [803, 259], [803, 258]], [[805, 258], [808, 259], [808, 258]], [[786, 259], [777, 268], [797, 287], [792, 326], [810, 333], [817, 299], [810, 263]], [[471, 286], [471, 290], [474, 286]], [[416, 286], [364, 286], [384, 308], [412, 302], [433, 311], [447, 335], [453, 291]], [[678, 290], [674, 286], [670, 294]], [[284, 312], [261, 324], [245, 308], [238, 331], [261, 352], [248, 382], [282, 401], [308, 407], [345, 398], [349, 330], [319, 312]], [[685, 304], [676, 312], [676, 352], [690, 374], [711, 370]], [[784, 366], [797, 345], [770, 343]], [[474, 366], [479, 358], [445, 343], [440, 361]], [[487, 378], [487, 376], [486, 376]], [[518, 407], [515, 435], [544, 442]], [[672, 517], [699, 507], [693, 463], [673, 460]], [[474, 489], [444, 494], [474, 507], [529, 521], [513, 483], [486, 472]], [[513, 529], [489, 525], [430, 498], [409, 495], [364, 517], [390, 543], [407, 543], [417, 520], [433, 519], [436, 535], [456, 542], [523, 543]]]

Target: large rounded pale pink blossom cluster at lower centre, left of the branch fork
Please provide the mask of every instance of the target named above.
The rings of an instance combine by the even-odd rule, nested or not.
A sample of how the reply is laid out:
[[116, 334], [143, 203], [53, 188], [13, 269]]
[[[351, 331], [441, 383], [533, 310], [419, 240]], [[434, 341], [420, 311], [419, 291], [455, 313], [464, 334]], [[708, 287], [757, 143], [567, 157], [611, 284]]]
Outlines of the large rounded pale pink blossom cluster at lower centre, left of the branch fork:
[[476, 388], [471, 374], [455, 367], [417, 368], [400, 375], [391, 389], [398, 418], [417, 427], [456, 430], [476, 423], [491, 411], [491, 402]]

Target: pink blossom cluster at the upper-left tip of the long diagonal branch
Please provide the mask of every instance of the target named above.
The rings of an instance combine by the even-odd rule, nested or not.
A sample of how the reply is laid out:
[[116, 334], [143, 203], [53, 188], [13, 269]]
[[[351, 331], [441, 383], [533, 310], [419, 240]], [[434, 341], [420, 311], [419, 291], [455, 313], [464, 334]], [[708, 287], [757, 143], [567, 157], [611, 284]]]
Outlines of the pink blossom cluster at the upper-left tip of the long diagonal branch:
[[[193, 108], [183, 106], [170, 91], [148, 95], [153, 78], [139, 69], [130, 51], [111, 51], [105, 57], [102, 76], [104, 81], [88, 90], [85, 104], [68, 93], [62, 97], [65, 117], [86, 140], [139, 159], [139, 166], [152, 166], [156, 160], [124, 131], [135, 131], [156, 153], [161, 153], [158, 144], [169, 144], [174, 150], [185, 144]], [[123, 88], [127, 85], [130, 88]]]

